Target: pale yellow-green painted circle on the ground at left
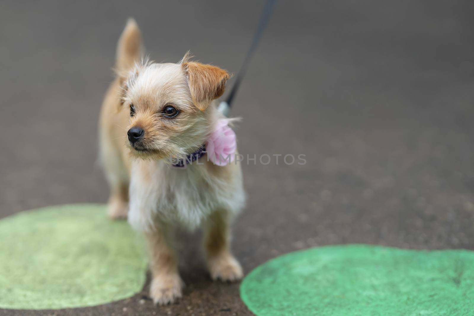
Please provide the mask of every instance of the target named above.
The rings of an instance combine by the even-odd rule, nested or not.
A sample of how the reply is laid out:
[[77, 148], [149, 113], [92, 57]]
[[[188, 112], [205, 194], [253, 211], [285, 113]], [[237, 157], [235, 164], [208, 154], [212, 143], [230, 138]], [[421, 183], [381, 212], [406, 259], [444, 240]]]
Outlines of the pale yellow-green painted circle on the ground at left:
[[72, 204], [0, 220], [0, 308], [85, 307], [128, 298], [146, 278], [142, 239], [103, 205]]

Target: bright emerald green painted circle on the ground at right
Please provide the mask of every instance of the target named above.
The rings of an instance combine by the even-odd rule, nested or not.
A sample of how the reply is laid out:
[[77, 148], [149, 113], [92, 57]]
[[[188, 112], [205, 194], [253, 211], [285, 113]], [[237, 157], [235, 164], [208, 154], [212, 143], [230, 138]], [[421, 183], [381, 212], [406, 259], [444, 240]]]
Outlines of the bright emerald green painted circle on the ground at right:
[[257, 316], [473, 315], [474, 253], [312, 248], [257, 267], [240, 295]]

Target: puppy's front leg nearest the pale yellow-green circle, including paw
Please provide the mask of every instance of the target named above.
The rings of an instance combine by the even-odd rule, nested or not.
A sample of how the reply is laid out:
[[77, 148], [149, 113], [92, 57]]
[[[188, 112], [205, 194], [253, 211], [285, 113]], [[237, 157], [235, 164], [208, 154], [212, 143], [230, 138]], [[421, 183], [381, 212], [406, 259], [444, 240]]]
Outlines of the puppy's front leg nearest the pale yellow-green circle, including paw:
[[170, 245], [170, 230], [170, 227], [160, 225], [155, 231], [145, 234], [153, 276], [150, 296], [155, 304], [160, 305], [170, 304], [181, 298], [182, 280]]

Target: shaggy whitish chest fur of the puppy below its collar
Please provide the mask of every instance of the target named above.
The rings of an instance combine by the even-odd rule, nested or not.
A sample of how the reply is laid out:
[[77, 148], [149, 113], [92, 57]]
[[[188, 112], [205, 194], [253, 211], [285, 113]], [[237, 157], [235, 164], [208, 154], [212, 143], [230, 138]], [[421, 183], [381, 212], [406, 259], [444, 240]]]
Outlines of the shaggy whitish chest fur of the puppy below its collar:
[[200, 226], [213, 211], [237, 213], [245, 203], [240, 165], [202, 164], [176, 168], [163, 161], [134, 161], [131, 168], [128, 221], [149, 230], [156, 221], [189, 229]]

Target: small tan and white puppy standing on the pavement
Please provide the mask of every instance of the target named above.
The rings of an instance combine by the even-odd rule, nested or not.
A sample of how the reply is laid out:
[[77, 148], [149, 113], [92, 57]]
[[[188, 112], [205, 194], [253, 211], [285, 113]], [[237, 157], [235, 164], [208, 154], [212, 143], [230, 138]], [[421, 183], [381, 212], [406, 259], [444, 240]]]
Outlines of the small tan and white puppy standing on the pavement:
[[111, 194], [109, 216], [143, 231], [153, 274], [155, 303], [181, 297], [182, 280], [172, 248], [173, 228], [204, 227], [212, 279], [238, 280], [242, 269], [230, 251], [229, 222], [243, 207], [238, 162], [215, 165], [203, 156], [185, 168], [170, 157], [193, 153], [206, 143], [222, 115], [214, 99], [228, 73], [191, 62], [140, 62], [141, 36], [130, 19], [117, 47], [117, 78], [100, 113], [100, 158]]

